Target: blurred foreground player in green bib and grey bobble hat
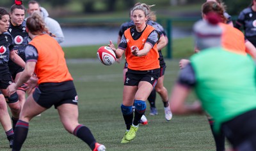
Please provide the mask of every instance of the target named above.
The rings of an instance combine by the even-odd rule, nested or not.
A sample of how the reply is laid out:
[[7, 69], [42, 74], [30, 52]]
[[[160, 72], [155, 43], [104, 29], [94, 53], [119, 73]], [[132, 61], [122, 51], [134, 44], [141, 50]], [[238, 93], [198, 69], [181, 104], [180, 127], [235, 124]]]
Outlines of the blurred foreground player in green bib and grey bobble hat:
[[[202, 113], [214, 119], [214, 131], [222, 131], [234, 150], [256, 150], [255, 64], [248, 55], [228, 52], [221, 47], [223, 29], [216, 13], [194, 26], [196, 47], [179, 74], [170, 95], [175, 114]], [[200, 102], [186, 104], [192, 88]], [[201, 104], [202, 103], [202, 104]]]

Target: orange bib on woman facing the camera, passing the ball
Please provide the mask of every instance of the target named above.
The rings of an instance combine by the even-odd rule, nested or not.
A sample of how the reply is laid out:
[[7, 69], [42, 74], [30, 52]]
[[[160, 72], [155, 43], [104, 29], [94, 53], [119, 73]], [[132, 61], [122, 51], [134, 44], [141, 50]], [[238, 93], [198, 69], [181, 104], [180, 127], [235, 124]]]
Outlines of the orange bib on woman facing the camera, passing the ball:
[[148, 54], [145, 56], [137, 57], [132, 55], [131, 53], [132, 46], [136, 46], [140, 50], [142, 50], [145, 45], [145, 42], [147, 41], [149, 34], [154, 30], [156, 30], [154, 29], [154, 27], [147, 25], [147, 27], [144, 29], [143, 33], [141, 34], [138, 40], [133, 40], [131, 35], [131, 28], [127, 29], [124, 32], [124, 36], [127, 40], [125, 57], [126, 57], [126, 61], [128, 63], [129, 69], [145, 71], [145, 70], [160, 68], [159, 60], [158, 60], [159, 54], [156, 47], [157, 44], [154, 45], [154, 47], [152, 47], [151, 50], [148, 52]]

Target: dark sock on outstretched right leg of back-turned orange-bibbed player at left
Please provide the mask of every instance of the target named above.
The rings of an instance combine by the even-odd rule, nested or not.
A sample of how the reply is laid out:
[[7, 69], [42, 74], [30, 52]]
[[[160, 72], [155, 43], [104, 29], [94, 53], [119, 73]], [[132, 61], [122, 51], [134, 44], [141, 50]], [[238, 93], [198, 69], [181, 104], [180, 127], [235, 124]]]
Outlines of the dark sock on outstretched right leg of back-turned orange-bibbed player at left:
[[95, 148], [96, 140], [88, 127], [80, 124], [76, 127], [73, 134], [87, 143], [92, 150]]

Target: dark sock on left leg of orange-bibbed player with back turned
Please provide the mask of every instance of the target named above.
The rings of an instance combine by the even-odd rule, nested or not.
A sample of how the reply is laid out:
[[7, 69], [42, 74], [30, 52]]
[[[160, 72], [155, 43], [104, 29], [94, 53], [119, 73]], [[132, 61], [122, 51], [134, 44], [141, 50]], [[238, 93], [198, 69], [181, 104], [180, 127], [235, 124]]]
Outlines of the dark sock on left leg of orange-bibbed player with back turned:
[[29, 123], [22, 120], [18, 120], [15, 127], [14, 141], [13, 141], [13, 150], [20, 150], [24, 141], [28, 135]]

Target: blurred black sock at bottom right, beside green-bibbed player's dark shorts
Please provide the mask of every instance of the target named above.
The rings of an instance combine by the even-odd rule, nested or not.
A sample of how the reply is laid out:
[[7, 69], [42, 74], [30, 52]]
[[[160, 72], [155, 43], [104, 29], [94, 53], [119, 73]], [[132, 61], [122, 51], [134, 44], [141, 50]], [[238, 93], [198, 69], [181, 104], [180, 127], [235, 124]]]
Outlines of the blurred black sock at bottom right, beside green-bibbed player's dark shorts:
[[225, 150], [225, 135], [222, 132], [220, 132], [220, 134], [216, 134], [216, 132], [213, 131], [213, 125], [214, 125], [213, 120], [212, 119], [208, 119], [208, 120], [209, 120], [209, 124], [211, 126], [213, 138], [215, 141], [216, 151]]

